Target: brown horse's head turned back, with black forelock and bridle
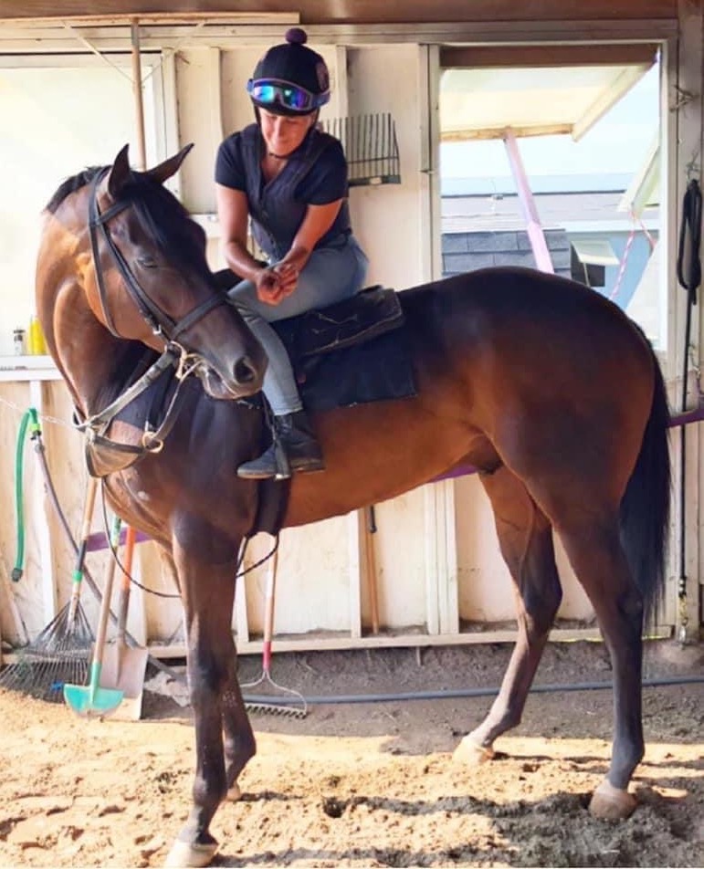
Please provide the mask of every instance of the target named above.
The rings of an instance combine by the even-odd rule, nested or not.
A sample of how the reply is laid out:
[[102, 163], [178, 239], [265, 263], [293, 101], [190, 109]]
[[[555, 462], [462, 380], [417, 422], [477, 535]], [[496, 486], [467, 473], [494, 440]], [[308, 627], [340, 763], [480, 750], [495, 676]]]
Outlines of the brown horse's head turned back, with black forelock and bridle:
[[141, 173], [131, 170], [125, 146], [96, 175], [89, 203], [94, 275], [86, 292], [113, 335], [173, 349], [213, 398], [239, 398], [261, 388], [264, 351], [215, 286], [203, 228], [163, 186], [191, 147]]

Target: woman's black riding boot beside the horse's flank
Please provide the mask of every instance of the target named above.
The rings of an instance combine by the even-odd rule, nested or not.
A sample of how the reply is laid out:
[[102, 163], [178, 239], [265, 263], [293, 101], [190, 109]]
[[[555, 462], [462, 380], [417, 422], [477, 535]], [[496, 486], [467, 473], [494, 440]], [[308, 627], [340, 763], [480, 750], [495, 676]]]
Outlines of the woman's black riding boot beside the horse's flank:
[[[269, 476], [281, 479], [290, 476], [293, 471], [324, 470], [320, 445], [305, 411], [275, 416], [274, 424], [277, 427], [274, 443], [258, 458], [240, 465], [237, 476], [244, 476], [249, 480], [263, 480]], [[285, 453], [290, 472], [286, 468], [286, 460], [277, 457], [278, 448]]]

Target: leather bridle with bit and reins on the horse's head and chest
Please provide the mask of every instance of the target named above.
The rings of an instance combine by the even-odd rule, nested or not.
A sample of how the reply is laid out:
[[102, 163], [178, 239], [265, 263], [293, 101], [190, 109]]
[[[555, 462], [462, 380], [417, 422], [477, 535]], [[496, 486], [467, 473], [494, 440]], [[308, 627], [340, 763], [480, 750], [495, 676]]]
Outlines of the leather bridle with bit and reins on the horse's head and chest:
[[[142, 318], [146, 320], [152, 329], [154, 335], [163, 340], [162, 355], [147, 369], [146, 372], [134, 383], [131, 384], [124, 392], [122, 392], [115, 401], [111, 402], [106, 408], [100, 411], [99, 414], [93, 414], [86, 419], [77, 423], [79, 431], [86, 432], [89, 443], [96, 443], [105, 446], [112, 446], [119, 449], [121, 452], [134, 454], [136, 461], [144, 453], [158, 453], [163, 448], [163, 440], [173, 428], [173, 423], [176, 417], [176, 402], [181, 391], [181, 387], [186, 377], [193, 374], [198, 369], [207, 366], [203, 356], [199, 353], [187, 351], [184, 346], [177, 340], [186, 331], [191, 329], [195, 323], [203, 319], [206, 314], [220, 305], [226, 304], [224, 294], [214, 294], [212, 297], [205, 299], [199, 305], [196, 305], [193, 310], [189, 311], [182, 319], [174, 320], [163, 309], [156, 305], [152, 299], [144, 291], [140, 282], [134, 277], [132, 270], [122, 256], [121, 250], [115, 245], [115, 242], [110, 236], [108, 224], [110, 220], [119, 215], [126, 208], [130, 207], [129, 201], [117, 201], [110, 205], [105, 211], [100, 211], [98, 204], [98, 187], [100, 181], [108, 172], [105, 169], [102, 173], [98, 173], [93, 180], [90, 188], [89, 200], [89, 235], [90, 249], [93, 257], [93, 265], [95, 267], [96, 280], [98, 283], [98, 295], [100, 298], [100, 309], [102, 310], [105, 325], [110, 330], [110, 333], [116, 338], [122, 336], [115, 327], [115, 321], [110, 313], [108, 306], [108, 293], [105, 285], [105, 277], [100, 267], [100, 236], [110, 250], [112, 259], [120, 272], [122, 282], [124, 283], [127, 292], [139, 310]], [[176, 369], [175, 377], [178, 381], [173, 397], [168, 404], [166, 413], [163, 416], [161, 424], [156, 429], [152, 429], [149, 420], [145, 422], [144, 431], [142, 433], [142, 444], [140, 446], [120, 444], [116, 441], [111, 441], [105, 436], [110, 423], [121, 410], [134, 401], [139, 395], [144, 393], [153, 382], [161, 376], [168, 368]], [[78, 410], [76, 412], [79, 414]], [[82, 416], [82, 414], [79, 414]]]

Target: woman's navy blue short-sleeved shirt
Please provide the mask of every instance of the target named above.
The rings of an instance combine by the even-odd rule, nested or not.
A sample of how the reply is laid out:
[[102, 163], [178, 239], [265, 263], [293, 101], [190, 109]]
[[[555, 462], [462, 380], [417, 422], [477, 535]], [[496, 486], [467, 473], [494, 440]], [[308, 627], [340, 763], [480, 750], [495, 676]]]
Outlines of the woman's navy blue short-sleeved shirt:
[[347, 161], [339, 140], [313, 127], [269, 182], [261, 171], [263, 155], [264, 139], [257, 124], [233, 133], [217, 151], [215, 181], [247, 194], [252, 235], [268, 257], [277, 260], [286, 255], [309, 205], [345, 200], [316, 247], [350, 235]]

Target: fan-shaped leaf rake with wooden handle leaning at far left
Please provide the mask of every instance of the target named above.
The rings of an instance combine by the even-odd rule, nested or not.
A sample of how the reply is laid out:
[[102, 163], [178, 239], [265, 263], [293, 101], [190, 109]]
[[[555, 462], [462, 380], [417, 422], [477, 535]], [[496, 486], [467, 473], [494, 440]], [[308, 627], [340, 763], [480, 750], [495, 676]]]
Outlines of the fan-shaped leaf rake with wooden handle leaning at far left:
[[[38, 423], [32, 436], [38, 442], [37, 452], [43, 451]], [[51, 486], [48, 478], [47, 486]], [[80, 587], [97, 490], [98, 481], [89, 477], [71, 598], [31, 643], [17, 651], [16, 662], [0, 674], [0, 687], [61, 703], [64, 683], [87, 680], [93, 633], [80, 604]]]

